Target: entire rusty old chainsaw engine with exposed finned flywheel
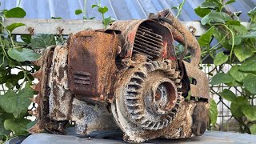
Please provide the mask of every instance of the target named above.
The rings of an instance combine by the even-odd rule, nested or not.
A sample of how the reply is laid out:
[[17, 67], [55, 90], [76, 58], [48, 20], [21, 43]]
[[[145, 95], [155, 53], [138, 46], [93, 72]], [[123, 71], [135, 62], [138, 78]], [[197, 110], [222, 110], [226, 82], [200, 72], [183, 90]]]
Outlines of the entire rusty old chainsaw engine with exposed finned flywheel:
[[[190, 62], [176, 56], [174, 41], [190, 50]], [[169, 10], [70, 35], [35, 62], [38, 122], [30, 132], [65, 134], [74, 122], [81, 135], [121, 129], [126, 142], [202, 135], [209, 84], [199, 59], [198, 42]]]

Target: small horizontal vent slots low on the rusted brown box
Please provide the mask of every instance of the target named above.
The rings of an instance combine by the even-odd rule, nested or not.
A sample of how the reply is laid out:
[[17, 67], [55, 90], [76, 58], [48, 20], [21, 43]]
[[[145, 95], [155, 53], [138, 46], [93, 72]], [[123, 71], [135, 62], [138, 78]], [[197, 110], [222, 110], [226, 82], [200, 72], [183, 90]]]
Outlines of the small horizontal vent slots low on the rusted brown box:
[[78, 72], [74, 74], [74, 83], [90, 85], [90, 73]]

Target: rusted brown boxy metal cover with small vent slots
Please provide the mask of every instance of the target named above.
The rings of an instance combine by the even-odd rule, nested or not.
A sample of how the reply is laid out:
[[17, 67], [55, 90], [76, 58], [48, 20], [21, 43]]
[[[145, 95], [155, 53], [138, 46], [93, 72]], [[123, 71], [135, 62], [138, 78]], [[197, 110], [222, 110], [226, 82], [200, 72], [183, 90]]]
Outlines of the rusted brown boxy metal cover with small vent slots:
[[114, 33], [92, 30], [81, 31], [70, 38], [69, 82], [76, 98], [103, 101], [110, 94], [110, 83], [116, 70], [117, 41]]

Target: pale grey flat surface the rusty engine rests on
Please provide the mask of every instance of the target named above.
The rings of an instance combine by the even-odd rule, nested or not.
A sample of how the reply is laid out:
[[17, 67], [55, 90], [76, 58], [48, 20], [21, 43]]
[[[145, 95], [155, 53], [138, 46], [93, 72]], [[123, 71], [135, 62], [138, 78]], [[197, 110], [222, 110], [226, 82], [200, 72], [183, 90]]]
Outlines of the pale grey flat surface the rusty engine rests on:
[[[11, 142], [10, 142], [11, 143]], [[118, 144], [125, 143], [122, 141], [121, 133], [104, 132], [95, 133], [90, 138], [79, 138], [74, 135], [57, 135], [57, 134], [31, 134], [22, 144]], [[238, 134], [231, 132], [206, 131], [200, 137], [186, 138], [179, 140], [169, 140], [158, 138], [145, 143], [206, 143], [206, 144], [222, 144], [222, 143], [256, 143], [256, 135]]]

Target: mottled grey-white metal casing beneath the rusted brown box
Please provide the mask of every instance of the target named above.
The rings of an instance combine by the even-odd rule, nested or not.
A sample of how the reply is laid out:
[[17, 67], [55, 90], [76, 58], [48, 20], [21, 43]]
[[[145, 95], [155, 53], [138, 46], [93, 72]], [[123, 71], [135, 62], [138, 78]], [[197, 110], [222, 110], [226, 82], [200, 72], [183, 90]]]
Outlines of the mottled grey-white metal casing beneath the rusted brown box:
[[98, 130], [117, 130], [118, 126], [110, 110], [106, 109], [107, 103], [94, 102], [88, 104], [74, 98], [72, 103], [72, 118], [75, 122], [77, 134], [86, 135]]

